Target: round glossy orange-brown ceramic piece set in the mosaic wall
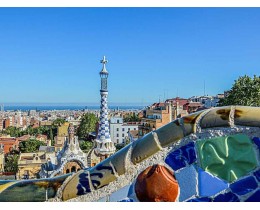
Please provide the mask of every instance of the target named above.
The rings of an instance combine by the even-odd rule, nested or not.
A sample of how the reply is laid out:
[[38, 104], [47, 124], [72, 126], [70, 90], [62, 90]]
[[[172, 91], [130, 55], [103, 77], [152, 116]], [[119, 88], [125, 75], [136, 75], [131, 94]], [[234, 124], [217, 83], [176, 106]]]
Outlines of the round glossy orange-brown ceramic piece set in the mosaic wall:
[[179, 196], [179, 186], [169, 169], [161, 165], [153, 165], [138, 175], [135, 193], [138, 200], [142, 202], [174, 202]]

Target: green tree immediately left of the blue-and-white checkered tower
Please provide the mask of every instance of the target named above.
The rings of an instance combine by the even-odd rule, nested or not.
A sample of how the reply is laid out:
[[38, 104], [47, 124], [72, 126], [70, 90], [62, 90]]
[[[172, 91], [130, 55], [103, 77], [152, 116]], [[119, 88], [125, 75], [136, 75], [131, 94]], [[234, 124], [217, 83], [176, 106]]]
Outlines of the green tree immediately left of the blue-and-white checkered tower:
[[98, 118], [93, 113], [86, 113], [82, 116], [80, 125], [77, 129], [79, 139], [88, 138], [88, 134], [96, 130]]

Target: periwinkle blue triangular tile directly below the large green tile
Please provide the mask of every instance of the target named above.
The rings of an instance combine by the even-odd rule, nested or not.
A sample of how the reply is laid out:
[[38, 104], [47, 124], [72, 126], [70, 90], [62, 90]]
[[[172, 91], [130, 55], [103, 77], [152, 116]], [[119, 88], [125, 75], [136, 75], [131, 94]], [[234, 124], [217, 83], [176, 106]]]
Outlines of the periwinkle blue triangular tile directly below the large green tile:
[[198, 168], [199, 195], [212, 196], [228, 188], [228, 183]]

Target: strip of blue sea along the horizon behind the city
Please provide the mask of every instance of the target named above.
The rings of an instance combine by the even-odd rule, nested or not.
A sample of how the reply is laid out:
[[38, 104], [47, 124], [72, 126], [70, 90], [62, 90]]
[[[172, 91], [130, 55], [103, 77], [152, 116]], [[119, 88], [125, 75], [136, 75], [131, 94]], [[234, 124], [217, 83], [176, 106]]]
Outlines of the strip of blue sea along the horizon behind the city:
[[[100, 105], [4, 105], [4, 111], [48, 111], [48, 110], [99, 110]], [[142, 110], [144, 105], [111, 105], [110, 110]]]

